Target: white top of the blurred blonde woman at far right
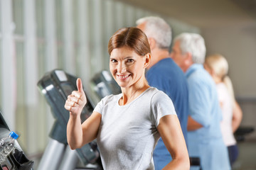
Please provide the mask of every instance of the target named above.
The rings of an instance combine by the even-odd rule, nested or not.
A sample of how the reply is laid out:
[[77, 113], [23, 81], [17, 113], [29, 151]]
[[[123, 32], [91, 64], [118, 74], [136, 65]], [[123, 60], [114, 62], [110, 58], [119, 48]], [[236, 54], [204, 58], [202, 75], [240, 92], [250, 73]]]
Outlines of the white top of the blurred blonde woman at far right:
[[233, 106], [231, 97], [224, 83], [217, 84], [217, 91], [223, 113], [223, 120], [220, 123], [223, 140], [226, 146], [235, 145], [236, 141], [232, 130]]

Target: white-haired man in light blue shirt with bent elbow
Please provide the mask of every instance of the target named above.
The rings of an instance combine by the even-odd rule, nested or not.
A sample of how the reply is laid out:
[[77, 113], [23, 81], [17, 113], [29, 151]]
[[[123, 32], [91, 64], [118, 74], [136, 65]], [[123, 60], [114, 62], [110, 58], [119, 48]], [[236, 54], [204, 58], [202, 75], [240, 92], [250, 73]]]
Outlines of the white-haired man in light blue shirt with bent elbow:
[[171, 57], [188, 81], [188, 154], [201, 159], [202, 169], [228, 170], [228, 149], [220, 131], [222, 113], [215, 83], [203, 68], [205, 56], [206, 46], [201, 35], [182, 33], [174, 39]]

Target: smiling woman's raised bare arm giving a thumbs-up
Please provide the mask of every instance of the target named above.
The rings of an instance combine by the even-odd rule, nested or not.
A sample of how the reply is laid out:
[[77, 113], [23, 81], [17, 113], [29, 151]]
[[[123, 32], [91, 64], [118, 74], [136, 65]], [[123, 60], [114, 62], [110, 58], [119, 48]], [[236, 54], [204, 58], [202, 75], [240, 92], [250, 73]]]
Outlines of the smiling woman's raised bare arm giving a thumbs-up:
[[68, 145], [71, 149], [82, 147], [97, 137], [100, 126], [101, 114], [93, 112], [84, 123], [81, 124], [81, 112], [87, 103], [85, 92], [82, 89], [81, 79], [77, 80], [78, 91], [73, 91], [65, 102], [65, 109], [70, 111], [67, 125]]

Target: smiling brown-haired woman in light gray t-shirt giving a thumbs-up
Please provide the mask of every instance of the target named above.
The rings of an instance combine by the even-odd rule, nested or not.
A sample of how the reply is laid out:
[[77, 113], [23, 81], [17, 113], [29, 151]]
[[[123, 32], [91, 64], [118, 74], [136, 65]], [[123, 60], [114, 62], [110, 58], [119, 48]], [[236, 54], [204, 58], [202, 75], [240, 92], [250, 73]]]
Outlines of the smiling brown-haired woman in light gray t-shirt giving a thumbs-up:
[[146, 35], [139, 28], [122, 28], [112, 35], [108, 47], [110, 72], [122, 94], [102, 98], [81, 125], [86, 96], [78, 79], [78, 91], [65, 103], [70, 111], [68, 144], [76, 149], [96, 138], [104, 169], [151, 170], [154, 147], [161, 136], [174, 158], [164, 169], [189, 169], [174, 104], [164, 92], [150, 87], [144, 75], [151, 59]]

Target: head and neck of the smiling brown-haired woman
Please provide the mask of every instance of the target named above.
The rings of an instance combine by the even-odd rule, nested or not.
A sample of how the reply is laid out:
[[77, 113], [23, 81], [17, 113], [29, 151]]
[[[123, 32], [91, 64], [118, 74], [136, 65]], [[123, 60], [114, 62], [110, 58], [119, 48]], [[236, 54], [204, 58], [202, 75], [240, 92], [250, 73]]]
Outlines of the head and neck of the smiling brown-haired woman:
[[122, 91], [127, 91], [119, 101], [124, 105], [149, 88], [144, 76], [151, 59], [149, 42], [142, 30], [122, 28], [110, 38], [108, 52], [110, 72]]

